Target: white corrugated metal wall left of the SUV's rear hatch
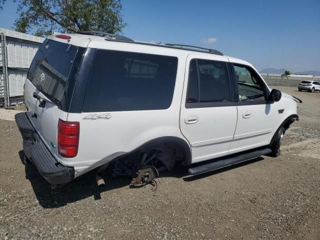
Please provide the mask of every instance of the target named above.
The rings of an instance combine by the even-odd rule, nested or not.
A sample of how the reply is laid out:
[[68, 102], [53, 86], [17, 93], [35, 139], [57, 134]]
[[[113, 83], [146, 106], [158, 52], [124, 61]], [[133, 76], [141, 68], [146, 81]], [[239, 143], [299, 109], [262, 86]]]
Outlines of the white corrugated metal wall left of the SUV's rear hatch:
[[44, 40], [0, 28], [0, 105], [23, 101], [23, 84], [32, 58]]

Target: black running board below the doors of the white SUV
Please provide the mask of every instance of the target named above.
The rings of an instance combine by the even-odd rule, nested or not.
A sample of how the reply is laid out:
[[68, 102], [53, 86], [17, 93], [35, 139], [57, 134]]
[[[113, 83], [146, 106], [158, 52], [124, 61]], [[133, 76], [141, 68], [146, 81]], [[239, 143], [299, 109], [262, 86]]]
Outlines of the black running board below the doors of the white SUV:
[[196, 166], [193, 168], [189, 168], [188, 171], [192, 175], [200, 174], [206, 171], [212, 171], [216, 170], [222, 167], [230, 166], [236, 163], [240, 163], [242, 161], [247, 161], [253, 158], [256, 158], [261, 155], [266, 155], [270, 153], [272, 150], [270, 148], [264, 148], [261, 150], [255, 150], [251, 152], [247, 152], [244, 154], [236, 155], [230, 158], [222, 159], [222, 160], [216, 160], [207, 164], [203, 164], [200, 166]]

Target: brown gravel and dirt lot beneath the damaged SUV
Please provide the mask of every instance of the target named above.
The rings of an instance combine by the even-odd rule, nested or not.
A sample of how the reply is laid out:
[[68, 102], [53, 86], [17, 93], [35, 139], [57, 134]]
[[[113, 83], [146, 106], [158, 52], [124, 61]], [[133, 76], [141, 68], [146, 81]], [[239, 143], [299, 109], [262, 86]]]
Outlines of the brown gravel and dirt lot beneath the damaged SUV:
[[303, 100], [277, 158], [191, 177], [178, 166], [151, 186], [94, 173], [50, 189], [21, 164], [14, 121], [0, 120], [0, 239], [320, 239], [320, 93]]

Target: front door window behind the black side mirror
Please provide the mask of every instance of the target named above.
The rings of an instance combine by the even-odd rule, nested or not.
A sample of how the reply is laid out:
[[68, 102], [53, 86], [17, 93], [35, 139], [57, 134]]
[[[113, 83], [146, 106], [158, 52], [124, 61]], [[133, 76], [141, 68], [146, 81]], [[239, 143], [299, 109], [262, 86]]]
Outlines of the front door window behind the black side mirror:
[[233, 64], [237, 79], [239, 101], [264, 100], [264, 84], [256, 72], [247, 66]]

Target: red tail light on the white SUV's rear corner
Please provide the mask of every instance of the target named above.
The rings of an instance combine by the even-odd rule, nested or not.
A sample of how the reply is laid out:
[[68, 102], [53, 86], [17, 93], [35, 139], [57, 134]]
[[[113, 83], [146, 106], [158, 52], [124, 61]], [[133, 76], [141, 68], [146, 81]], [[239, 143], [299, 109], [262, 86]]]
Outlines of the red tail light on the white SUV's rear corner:
[[58, 122], [58, 153], [63, 157], [74, 157], [78, 153], [80, 123], [78, 121]]

